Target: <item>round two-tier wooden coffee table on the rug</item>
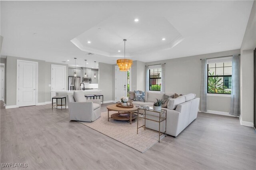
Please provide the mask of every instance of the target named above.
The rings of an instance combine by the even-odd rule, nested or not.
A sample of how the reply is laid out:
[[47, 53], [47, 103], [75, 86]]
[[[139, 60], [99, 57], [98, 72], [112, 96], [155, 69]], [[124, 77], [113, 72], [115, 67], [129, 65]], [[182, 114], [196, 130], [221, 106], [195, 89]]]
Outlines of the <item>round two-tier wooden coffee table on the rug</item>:
[[[108, 121], [110, 118], [112, 118], [119, 121], [130, 121], [130, 124], [132, 124], [132, 120], [136, 118], [136, 115], [134, 114], [134, 112], [138, 110], [138, 107], [139, 107], [138, 105], [134, 105], [133, 108], [122, 108], [122, 107], [117, 107], [116, 104], [108, 105], [107, 106]], [[111, 115], [111, 117], [109, 117], [109, 111], [118, 111], [118, 113], [114, 113]], [[127, 117], [119, 116], [120, 113], [127, 113], [128, 116]]]

